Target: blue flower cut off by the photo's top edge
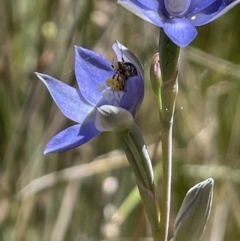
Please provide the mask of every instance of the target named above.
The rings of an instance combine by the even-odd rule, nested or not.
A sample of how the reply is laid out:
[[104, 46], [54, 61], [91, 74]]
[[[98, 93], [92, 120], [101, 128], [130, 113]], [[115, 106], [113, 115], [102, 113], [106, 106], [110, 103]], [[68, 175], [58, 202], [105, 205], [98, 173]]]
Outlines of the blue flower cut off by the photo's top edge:
[[178, 46], [186, 47], [197, 35], [195, 26], [228, 12], [240, 0], [118, 0], [140, 18], [164, 29]]

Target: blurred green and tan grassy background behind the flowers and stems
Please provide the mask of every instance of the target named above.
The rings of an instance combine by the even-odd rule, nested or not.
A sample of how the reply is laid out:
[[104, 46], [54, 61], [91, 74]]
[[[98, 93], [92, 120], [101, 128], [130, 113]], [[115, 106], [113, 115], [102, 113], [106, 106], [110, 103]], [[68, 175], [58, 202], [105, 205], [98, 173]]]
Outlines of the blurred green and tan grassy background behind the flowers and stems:
[[[195, 41], [181, 51], [171, 235], [187, 190], [213, 177], [203, 240], [240, 240], [239, 15], [237, 6], [198, 28]], [[135, 179], [114, 134], [43, 155], [47, 141], [72, 123], [34, 72], [76, 85], [74, 45], [112, 62], [113, 41], [126, 45], [146, 70], [137, 123], [156, 166], [161, 137], [148, 70], [158, 32], [113, 0], [0, 1], [0, 240], [151, 240]], [[161, 178], [156, 185], [160, 193]]]

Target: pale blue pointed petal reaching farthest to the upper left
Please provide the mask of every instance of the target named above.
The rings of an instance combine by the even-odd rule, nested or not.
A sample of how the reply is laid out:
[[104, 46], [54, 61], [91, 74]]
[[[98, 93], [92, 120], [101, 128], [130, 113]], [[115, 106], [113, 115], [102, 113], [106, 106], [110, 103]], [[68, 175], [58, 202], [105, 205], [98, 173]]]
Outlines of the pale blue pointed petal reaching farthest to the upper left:
[[75, 88], [49, 75], [36, 75], [46, 85], [53, 100], [67, 118], [81, 123], [93, 109]]

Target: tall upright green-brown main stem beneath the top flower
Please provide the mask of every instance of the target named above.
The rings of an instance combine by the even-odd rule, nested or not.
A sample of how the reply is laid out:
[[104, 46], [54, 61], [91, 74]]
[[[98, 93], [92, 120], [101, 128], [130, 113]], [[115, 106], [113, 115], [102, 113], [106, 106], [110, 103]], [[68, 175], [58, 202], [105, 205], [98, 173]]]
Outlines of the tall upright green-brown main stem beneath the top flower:
[[161, 235], [158, 241], [167, 241], [170, 202], [171, 202], [171, 178], [172, 178], [172, 125], [175, 109], [175, 100], [178, 92], [177, 63], [180, 48], [175, 45], [160, 29], [159, 58], [162, 76], [161, 116], [162, 130], [162, 195], [160, 200], [161, 211]]

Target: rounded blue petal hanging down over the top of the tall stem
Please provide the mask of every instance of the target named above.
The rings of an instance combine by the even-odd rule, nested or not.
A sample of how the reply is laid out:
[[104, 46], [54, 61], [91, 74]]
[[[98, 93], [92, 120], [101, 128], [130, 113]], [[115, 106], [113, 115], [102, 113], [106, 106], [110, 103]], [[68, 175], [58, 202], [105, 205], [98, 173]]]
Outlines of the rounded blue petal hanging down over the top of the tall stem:
[[163, 29], [168, 37], [180, 47], [189, 45], [197, 35], [196, 28], [187, 19], [170, 19], [164, 24]]

